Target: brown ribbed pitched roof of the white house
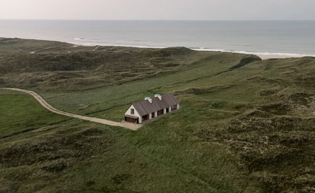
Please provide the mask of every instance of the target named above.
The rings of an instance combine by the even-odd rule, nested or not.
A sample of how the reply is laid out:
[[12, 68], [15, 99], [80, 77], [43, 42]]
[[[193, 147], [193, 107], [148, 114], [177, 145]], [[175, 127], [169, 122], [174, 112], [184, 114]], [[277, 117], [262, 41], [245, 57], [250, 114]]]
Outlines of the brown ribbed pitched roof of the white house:
[[169, 93], [163, 94], [162, 100], [160, 100], [158, 97], [154, 97], [152, 98], [152, 103], [150, 103], [148, 100], [143, 100], [133, 103], [132, 105], [135, 107], [135, 110], [140, 116], [144, 116], [177, 104], [179, 104], [179, 102], [174, 94]]

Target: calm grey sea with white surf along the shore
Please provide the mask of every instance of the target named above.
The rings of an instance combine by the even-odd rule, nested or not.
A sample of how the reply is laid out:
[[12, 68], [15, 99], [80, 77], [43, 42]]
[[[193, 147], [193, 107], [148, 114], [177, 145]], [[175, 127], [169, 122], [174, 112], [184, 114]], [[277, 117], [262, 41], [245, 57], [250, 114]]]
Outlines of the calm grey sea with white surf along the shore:
[[315, 21], [0, 20], [0, 37], [315, 56]]

